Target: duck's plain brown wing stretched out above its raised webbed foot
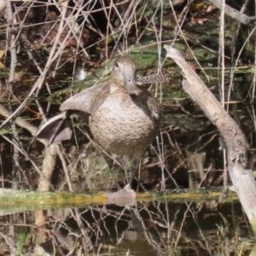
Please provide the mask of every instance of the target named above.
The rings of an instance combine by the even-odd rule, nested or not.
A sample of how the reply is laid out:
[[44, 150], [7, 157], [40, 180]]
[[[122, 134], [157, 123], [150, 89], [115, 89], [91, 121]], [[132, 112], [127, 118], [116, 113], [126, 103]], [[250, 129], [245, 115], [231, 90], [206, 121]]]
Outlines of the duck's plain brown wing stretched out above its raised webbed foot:
[[61, 111], [78, 112], [79, 114], [91, 114], [106, 100], [109, 95], [109, 83], [96, 84], [80, 91], [61, 104]]

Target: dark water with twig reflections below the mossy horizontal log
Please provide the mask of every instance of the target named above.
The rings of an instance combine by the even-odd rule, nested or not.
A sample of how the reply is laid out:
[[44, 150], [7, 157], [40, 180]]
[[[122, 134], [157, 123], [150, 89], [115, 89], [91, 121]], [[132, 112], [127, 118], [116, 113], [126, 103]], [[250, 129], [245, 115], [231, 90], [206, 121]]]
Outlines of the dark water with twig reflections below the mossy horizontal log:
[[249, 255], [238, 201], [137, 201], [1, 217], [1, 255]]

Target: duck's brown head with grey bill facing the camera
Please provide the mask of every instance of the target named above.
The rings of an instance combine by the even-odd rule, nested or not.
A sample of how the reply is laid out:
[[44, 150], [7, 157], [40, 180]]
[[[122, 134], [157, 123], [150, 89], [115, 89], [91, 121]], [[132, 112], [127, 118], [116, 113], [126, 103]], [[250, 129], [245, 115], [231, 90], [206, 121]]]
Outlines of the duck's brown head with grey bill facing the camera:
[[114, 62], [112, 77], [123, 84], [130, 95], [139, 95], [142, 92], [137, 87], [135, 63], [130, 57], [121, 56]]

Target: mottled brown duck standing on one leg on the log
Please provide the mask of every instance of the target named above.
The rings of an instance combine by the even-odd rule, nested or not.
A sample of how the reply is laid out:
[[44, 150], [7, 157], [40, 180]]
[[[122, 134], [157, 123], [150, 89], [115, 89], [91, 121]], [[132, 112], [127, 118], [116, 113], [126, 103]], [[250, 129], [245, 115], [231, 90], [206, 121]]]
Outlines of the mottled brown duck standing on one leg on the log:
[[49, 119], [36, 134], [48, 144], [70, 139], [73, 113], [89, 118], [94, 141], [107, 153], [132, 155], [131, 177], [124, 189], [131, 189], [140, 160], [160, 131], [160, 102], [148, 90], [137, 86], [134, 61], [119, 56], [110, 79], [81, 90], [61, 104], [61, 113]]

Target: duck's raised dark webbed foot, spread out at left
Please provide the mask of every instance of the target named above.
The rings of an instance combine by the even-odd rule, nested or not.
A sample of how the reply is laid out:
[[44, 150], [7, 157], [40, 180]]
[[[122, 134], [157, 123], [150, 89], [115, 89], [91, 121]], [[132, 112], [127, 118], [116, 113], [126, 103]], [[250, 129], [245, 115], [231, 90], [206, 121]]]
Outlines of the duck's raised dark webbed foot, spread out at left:
[[47, 140], [49, 145], [68, 140], [71, 136], [72, 129], [66, 111], [49, 119], [36, 134], [39, 139]]

